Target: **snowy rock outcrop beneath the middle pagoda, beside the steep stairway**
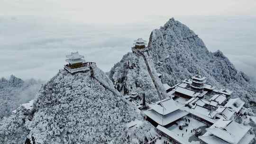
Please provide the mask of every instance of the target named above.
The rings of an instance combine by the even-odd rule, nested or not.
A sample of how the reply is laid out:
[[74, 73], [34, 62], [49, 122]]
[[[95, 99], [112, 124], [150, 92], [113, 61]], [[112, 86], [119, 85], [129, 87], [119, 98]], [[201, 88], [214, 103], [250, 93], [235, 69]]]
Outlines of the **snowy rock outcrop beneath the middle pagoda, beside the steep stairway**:
[[[160, 81], [157, 72], [153, 72], [155, 78]], [[130, 95], [133, 92], [145, 92], [146, 101], [159, 100], [154, 83], [147, 71], [146, 63], [141, 56], [133, 53], [125, 54], [121, 62], [115, 64], [111, 69], [109, 77], [115, 88], [124, 95]]]

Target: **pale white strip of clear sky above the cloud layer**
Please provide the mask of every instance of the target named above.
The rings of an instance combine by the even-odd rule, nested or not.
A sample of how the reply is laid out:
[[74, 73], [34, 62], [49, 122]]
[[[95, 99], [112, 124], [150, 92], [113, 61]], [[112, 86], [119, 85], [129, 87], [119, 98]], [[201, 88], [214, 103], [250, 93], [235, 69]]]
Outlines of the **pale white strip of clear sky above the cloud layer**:
[[0, 0], [0, 12], [117, 23], [145, 16], [255, 16], [256, 0]]

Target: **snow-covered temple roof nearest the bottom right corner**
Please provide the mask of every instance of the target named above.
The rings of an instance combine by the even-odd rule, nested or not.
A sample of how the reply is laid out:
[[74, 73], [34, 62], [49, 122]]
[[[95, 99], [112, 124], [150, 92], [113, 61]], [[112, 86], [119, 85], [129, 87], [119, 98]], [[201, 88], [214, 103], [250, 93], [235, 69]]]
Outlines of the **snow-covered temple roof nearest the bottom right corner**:
[[206, 128], [207, 133], [199, 138], [207, 144], [248, 144], [254, 136], [247, 134], [250, 128], [232, 120], [220, 119]]

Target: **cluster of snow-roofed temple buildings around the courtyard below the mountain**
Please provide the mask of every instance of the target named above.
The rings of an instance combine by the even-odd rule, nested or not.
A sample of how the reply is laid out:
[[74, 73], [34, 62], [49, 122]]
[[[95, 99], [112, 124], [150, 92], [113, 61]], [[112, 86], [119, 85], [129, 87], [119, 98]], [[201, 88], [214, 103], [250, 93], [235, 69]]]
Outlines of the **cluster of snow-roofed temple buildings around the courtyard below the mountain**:
[[254, 138], [248, 133], [250, 126], [234, 121], [249, 116], [244, 101], [231, 99], [231, 90], [207, 84], [200, 73], [163, 87], [167, 98], [149, 104], [142, 113], [168, 143], [249, 144]]

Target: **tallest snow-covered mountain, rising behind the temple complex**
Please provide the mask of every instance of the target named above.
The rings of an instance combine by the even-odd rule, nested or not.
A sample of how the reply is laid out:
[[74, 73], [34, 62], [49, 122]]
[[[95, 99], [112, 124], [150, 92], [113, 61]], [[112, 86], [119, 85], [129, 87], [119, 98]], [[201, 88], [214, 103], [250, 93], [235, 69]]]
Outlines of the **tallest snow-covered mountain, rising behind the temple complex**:
[[[164, 27], [154, 30], [149, 40], [150, 53], [157, 72], [163, 80], [174, 85], [200, 71], [207, 83], [233, 90], [233, 97], [240, 97], [253, 104], [256, 89], [248, 76], [236, 70], [220, 51], [209, 52], [201, 38], [182, 23], [170, 19]], [[157, 62], [163, 62], [157, 65]]]

